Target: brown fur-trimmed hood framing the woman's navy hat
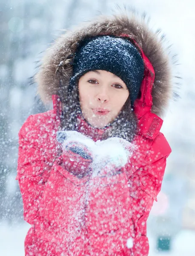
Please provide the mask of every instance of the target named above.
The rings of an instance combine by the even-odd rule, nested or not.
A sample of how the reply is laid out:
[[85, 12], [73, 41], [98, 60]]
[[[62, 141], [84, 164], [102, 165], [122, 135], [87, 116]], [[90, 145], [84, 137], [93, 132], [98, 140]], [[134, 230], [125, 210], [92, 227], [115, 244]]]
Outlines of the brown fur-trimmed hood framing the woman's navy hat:
[[[142, 101], [137, 102], [137, 105], [147, 105], [148, 110], [162, 117], [169, 99], [177, 96], [173, 91], [172, 65], [168, 52], [163, 48], [164, 36], [159, 36], [160, 30], [152, 32], [145, 15], [138, 15], [135, 11], [109, 17], [100, 15], [95, 21], [85, 23], [84, 26], [57, 38], [52, 46], [46, 49], [40, 69], [34, 76], [34, 81], [38, 84], [37, 94], [42, 101], [47, 104], [52, 100], [52, 95], [59, 95], [60, 80], [63, 80], [65, 85], [69, 84], [72, 76], [72, 58], [78, 43], [97, 35], [125, 36], [134, 41], [142, 52], [145, 64]], [[150, 76], [150, 82], [146, 76]], [[144, 100], [143, 94], [146, 93], [149, 97]]]

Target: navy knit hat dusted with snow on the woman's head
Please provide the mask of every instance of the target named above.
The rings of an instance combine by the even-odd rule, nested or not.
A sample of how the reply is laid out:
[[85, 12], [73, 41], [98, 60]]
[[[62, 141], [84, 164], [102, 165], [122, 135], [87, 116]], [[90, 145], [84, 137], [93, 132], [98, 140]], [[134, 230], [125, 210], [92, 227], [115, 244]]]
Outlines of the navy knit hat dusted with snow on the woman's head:
[[75, 53], [69, 86], [92, 70], [106, 70], [126, 84], [134, 105], [143, 79], [144, 64], [138, 49], [126, 38], [96, 36], [82, 41]]

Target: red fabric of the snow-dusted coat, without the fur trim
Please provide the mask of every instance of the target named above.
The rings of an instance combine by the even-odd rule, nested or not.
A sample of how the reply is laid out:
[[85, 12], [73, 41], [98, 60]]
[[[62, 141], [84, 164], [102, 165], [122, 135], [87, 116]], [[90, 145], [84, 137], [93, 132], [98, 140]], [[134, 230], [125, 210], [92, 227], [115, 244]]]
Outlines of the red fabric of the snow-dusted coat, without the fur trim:
[[[19, 131], [17, 177], [23, 198], [24, 219], [32, 225], [25, 239], [29, 256], [147, 256], [146, 220], [161, 189], [166, 158], [171, 148], [160, 132], [162, 119], [150, 112], [154, 72], [143, 55], [145, 77], [135, 113], [139, 132], [137, 146], [121, 173], [93, 178], [74, 175], [89, 163], [62, 156], [56, 132], [60, 102], [54, 110], [29, 116]], [[153, 75], [152, 75], [152, 72]], [[82, 118], [79, 131], [93, 128]], [[94, 140], [101, 138], [96, 129]], [[127, 248], [131, 238], [133, 247]]]

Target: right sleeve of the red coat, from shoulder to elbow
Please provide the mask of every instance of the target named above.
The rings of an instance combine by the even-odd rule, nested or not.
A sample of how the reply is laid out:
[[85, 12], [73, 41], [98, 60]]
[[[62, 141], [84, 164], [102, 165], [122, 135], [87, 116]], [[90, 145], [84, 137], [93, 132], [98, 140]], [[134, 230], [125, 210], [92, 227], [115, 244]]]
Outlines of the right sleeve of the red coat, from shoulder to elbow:
[[146, 221], [154, 200], [157, 201], [161, 190], [166, 160], [170, 153], [169, 143], [160, 133], [147, 151], [142, 165], [133, 173], [128, 173], [127, 170], [129, 194], [132, 200], [132, 221], [135, 224], [135, 246], [132, 248], [135, 255], [136, 251], [141, 252], [144, 247], [144, 250], [149, 250]]

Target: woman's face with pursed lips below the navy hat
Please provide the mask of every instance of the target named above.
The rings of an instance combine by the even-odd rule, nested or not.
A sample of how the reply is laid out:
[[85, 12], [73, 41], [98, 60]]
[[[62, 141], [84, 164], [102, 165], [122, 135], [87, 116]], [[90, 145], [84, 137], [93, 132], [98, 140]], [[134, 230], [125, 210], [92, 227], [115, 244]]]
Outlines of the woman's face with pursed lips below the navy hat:
[[126, 84], [105, 70], [85, 73], [78, 82], [83, 117], [96, 128], [112, 122], [129, 96]]

